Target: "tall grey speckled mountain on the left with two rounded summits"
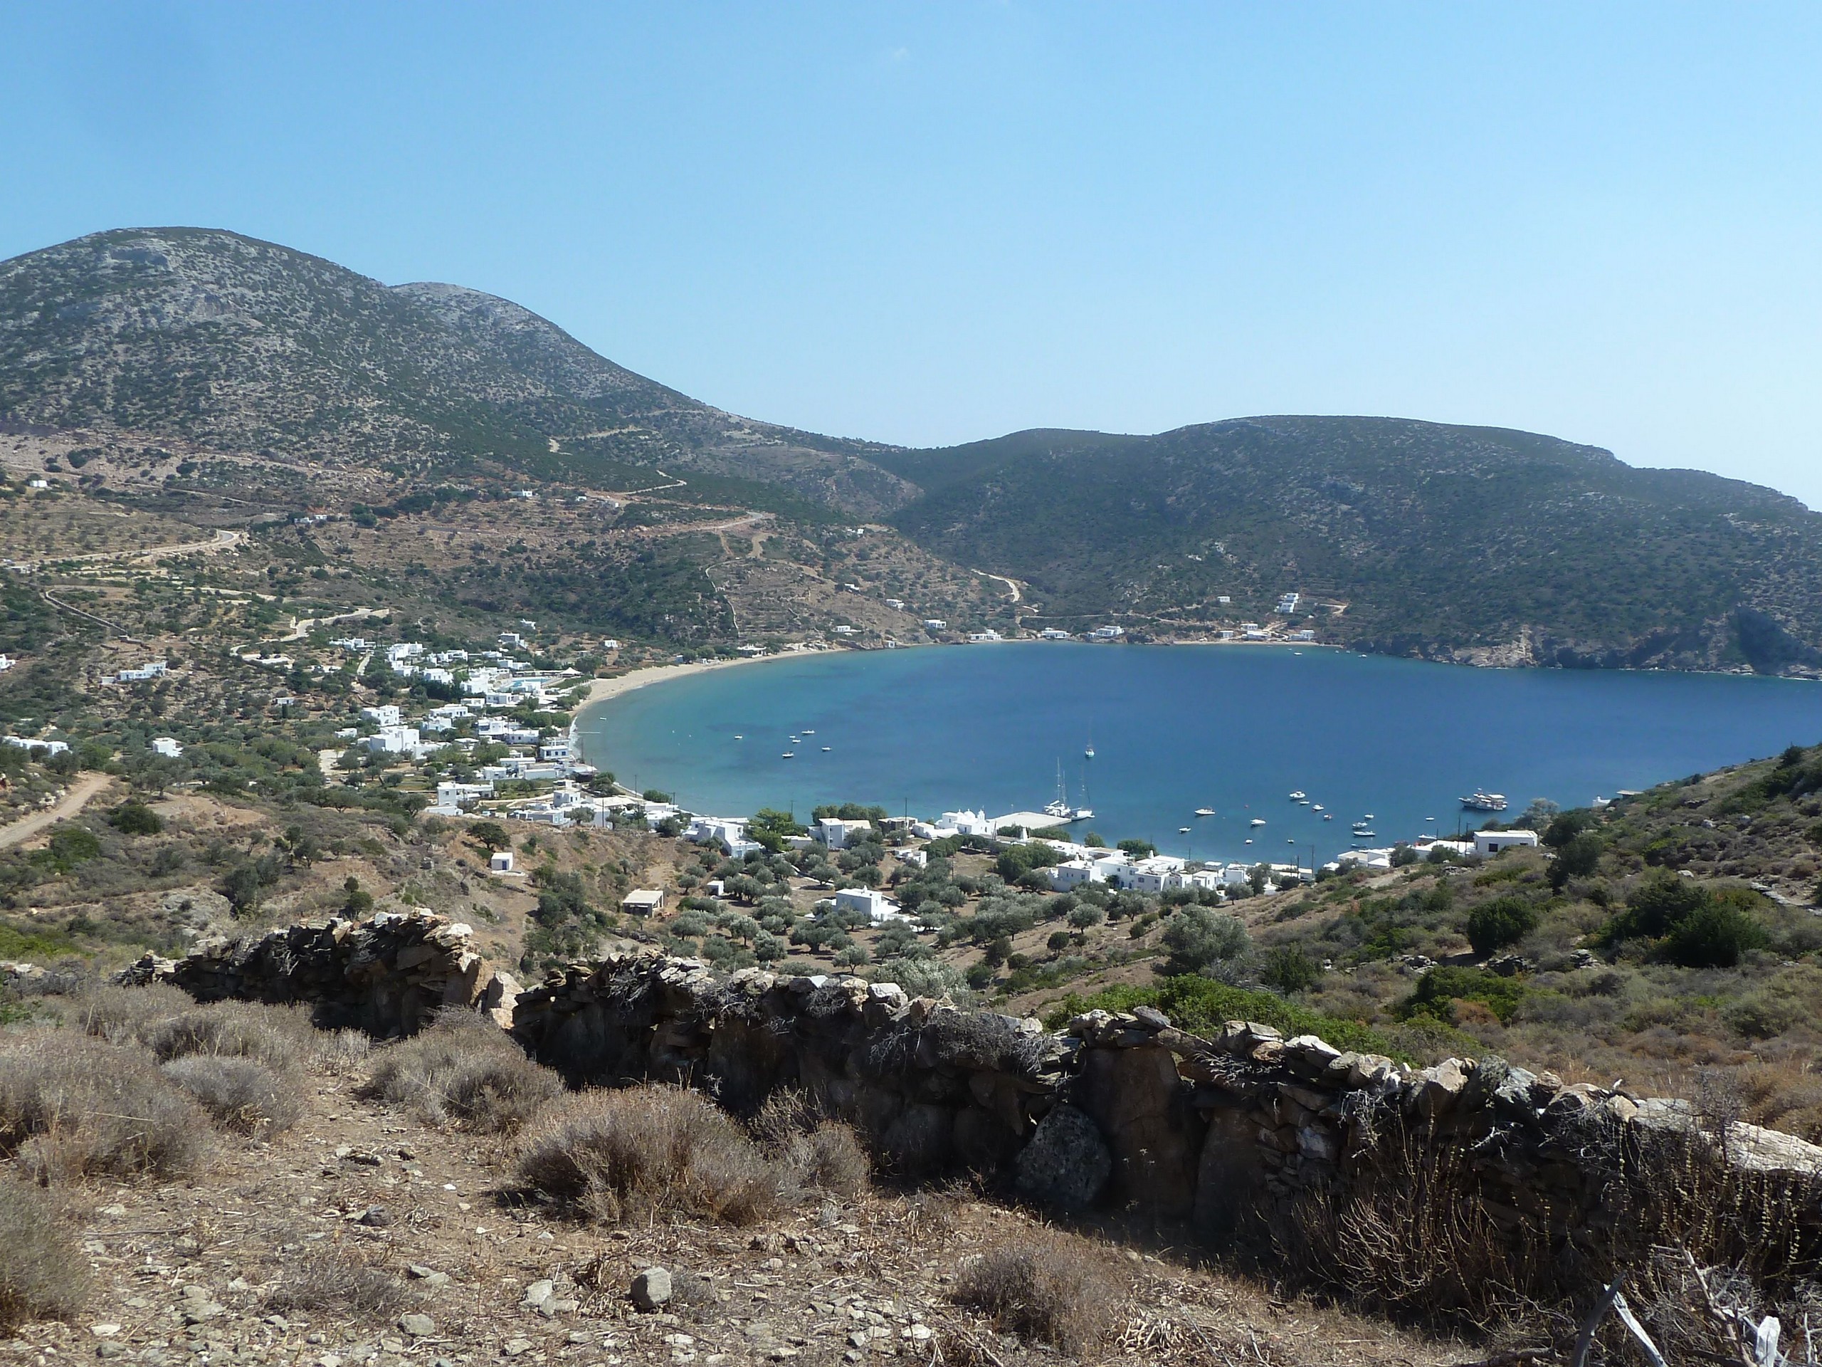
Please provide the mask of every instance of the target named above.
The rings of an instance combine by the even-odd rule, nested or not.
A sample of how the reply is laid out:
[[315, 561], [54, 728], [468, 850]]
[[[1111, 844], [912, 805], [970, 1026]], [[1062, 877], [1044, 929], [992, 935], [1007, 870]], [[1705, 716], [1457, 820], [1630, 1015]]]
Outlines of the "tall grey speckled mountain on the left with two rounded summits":
[[873, 512], [873, 447], [752, 423], [614, 365], [517, 304], [384, 286], [200, 228], [93, 233], [0, 262], [0, 414], [448, 476], [652, 483], [665, 461]]

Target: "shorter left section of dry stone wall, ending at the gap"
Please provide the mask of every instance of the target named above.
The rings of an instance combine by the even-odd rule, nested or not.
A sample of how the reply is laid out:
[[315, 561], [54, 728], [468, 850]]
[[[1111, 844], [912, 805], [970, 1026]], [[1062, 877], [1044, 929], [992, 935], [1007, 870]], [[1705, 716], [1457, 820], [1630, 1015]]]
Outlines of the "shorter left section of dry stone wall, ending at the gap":
[[310, 1002], [317, 1024], [375, 1037], [421, 1030], [445, 1006], [510, 1023], [517, 984], [470, 946], [474, 931], [428, 911], [304, 920], [268, 935], [210, 937], [182, 959], [146, 955], [128, 982], [173, 982], [197, 1001]]

